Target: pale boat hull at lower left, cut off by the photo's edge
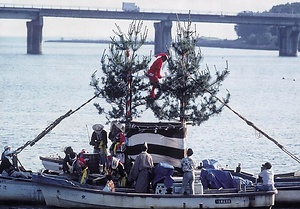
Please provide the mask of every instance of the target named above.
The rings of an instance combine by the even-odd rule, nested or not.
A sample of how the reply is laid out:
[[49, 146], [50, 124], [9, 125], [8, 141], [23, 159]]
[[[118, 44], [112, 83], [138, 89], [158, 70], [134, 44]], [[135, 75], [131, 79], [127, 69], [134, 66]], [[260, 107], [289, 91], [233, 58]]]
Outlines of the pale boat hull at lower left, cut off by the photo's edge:
[[45, 205], [40, 186], [31, 178], [14, 178], [0, 174], [0, 202]]

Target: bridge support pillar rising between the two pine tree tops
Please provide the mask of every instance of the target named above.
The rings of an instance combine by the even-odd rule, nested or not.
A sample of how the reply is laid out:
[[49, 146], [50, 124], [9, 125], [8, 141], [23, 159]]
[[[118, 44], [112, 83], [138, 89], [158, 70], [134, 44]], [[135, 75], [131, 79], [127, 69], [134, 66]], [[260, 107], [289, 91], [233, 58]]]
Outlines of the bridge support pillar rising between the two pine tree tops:
[[154, 23], [155, 29], [155, 45], [154, 53], [158, 54], [161, 52], [167, 52], [172, 41], [172, 21], [161, 21]]

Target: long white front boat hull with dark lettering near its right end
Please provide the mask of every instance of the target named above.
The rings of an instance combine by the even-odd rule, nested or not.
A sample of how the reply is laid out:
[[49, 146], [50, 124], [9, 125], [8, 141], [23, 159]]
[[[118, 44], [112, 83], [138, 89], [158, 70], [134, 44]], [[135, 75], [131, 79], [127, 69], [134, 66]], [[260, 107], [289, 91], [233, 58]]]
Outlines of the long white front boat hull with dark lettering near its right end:
[[136, 193], [133, 188], [116, 186], [113, 191], [104, 186], [83, 185], [55, 175], [37, 174], [33, 180], [40, 185], [47, 206], [63, 208], [271, 208], [276, 190], [258, 191], [236, 189], [207, 190], [185, 195]]

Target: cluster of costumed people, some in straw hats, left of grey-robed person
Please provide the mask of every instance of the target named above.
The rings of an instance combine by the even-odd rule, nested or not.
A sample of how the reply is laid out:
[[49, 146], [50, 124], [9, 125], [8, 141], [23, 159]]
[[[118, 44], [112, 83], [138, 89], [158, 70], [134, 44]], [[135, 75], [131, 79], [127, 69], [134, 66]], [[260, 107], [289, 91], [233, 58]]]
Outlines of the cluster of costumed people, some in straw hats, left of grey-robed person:
[[[93, 154], [87, 153], [85, 149], [77, 154], [72, 147], [66, 147], [63, 160], [64, 173], [82, 177], [85, 176], [84, 172], [88, 167], [90, 173], [105, 173], [109, 180], [118, 178], [120, 184], [124, 185], [128, 176], [124, 167], [126, 163], [124, 126], [119, 122], [112, 122], [109, 134], [102, 124], [94, 124], [92, 129], [90, 145], [93, 146]], [[108, 139], [111, 141], [109, 149]]]

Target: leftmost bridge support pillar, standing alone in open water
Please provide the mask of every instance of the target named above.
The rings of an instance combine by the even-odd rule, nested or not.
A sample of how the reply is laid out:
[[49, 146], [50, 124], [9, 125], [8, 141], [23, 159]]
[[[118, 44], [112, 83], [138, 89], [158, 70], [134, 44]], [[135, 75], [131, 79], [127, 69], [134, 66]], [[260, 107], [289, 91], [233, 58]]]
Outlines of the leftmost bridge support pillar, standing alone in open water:
[[42, 28], [43, 18], [31, 20], [26, 23], [27, 26], [27, 54], [42, 53]]

